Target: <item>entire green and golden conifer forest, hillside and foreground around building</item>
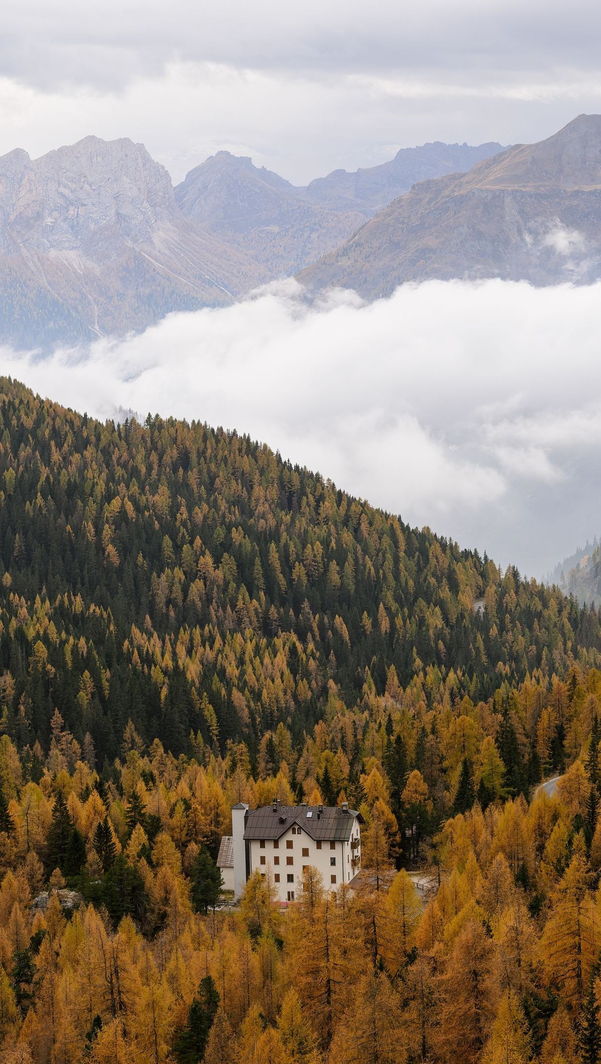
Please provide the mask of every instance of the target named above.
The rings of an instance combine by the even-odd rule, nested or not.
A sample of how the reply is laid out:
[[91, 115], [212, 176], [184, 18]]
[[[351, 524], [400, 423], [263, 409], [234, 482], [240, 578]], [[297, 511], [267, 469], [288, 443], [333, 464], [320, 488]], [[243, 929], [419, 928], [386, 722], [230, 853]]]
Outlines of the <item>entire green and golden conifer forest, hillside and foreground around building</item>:
[[[601, 1060], [597, 611], [9, 379], [0, 492], [2, 1061]], [[357, 883], [221, 908], [273, 797], [362, 813]]]

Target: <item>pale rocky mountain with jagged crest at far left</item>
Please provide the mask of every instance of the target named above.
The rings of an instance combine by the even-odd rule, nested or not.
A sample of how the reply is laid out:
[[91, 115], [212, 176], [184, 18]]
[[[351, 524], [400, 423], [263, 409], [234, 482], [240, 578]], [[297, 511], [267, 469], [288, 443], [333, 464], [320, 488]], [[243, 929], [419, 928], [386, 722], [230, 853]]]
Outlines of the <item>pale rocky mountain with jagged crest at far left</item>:
[[185, 221], [143, 145], [85, 137], [0, 159], [0, 336], [16, 346], [139, 330], [266, 276]]

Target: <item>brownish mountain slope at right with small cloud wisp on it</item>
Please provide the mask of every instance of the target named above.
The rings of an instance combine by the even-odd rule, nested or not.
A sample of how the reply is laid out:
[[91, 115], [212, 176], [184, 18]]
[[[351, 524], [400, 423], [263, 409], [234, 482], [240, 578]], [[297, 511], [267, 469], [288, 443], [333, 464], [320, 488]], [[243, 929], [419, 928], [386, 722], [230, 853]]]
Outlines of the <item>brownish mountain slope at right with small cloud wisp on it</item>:
[[600, 223], [601, 116], [581, 115], [539, 144], [414, 185], [300, 279], [366, 298], [429, 278], [588, 282], [601, 276]]

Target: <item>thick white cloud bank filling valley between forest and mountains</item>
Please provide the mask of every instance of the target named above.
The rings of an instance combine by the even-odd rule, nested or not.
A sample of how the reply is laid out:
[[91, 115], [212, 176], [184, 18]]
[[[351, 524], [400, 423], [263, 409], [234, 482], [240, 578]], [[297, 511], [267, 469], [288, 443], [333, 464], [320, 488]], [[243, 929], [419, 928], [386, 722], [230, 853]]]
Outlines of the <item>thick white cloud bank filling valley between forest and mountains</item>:
[[310, 304], [294, 281], [0, 370], [101, 417], [206, 420], [538, 575], [601, 529], [601, 284], [431, 281]]

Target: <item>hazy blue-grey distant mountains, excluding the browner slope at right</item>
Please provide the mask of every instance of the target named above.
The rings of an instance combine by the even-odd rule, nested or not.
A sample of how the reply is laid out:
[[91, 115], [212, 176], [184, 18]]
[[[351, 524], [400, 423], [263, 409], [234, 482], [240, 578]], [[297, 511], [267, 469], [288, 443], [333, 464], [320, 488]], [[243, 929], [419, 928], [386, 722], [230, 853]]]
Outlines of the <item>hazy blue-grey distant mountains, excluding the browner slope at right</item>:
[[88, 136], [0, 159], [0, 342], [49, 348], [232, 302], [346, 240], [414, 180], [500, 145], [425, 145], [298, 188], [218, 152], [176, 189], [145, 147]]

